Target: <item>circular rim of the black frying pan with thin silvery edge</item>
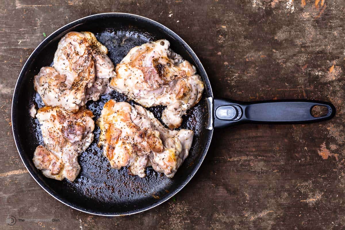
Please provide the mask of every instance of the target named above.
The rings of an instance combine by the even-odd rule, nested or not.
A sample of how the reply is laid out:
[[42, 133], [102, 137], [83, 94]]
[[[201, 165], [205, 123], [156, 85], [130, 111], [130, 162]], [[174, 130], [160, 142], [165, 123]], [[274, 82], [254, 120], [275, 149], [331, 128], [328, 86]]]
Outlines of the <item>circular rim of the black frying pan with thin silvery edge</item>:
[[[147, 207], [144, 207], [144, 208], [139, 208], [138, 210], [131, 210], [131, 211], [127, 211], [127, 212], [123, 212], [123, 213], [120, 213], [120, 212], [117, 212], [119, 214], [108, 214], [108, 213], [102, 213], [102, 212], [92, 212], [92, 211], [89, 211], [88, 209], [83, 209], [81, 206], [77, 205], [77, 204], [72, 204], [72, 203], [69, 203], [66, 199], [62, 198], [59, 196], [58, 193], [52, 191], [49, 187], [47, 186], [44, 186], [44, 183], [42, 182], [39, 182], [39, 177], [36, 175], [36, 173], [33, 171], [32, 167], [29, 166], [29, 164], [27, 164], [24, 160], [23, 160], [23, 157], [22, 157], [22, 154], [24, 153], [24, 150], [20, 149], [19, 148], [19, 143], [20, 143], [20, 139], [19, 139], [19, 133], [17, 130], [15, 130], [15, 126], [13, 125], [13, 120], [15, 119], [14, 118], [14, 115], [15, 115], [15, 112], [14, 112], [14, 108], [17, 108], [17, 105], [14, 104], [14, 102], [16, 101], [17, 102], [17, 99], [16, 99], [16, 96], [18, 96], [19, 94], [19, 86], [18, 86], [18, 83], [23, 79], [23, 71], [26, 70], [28, 68], [28, 65], [31, 63], [31, 57], [36, 54], [37, 50], [41, 48], [41, 46], [45, 43], [48, 44], [48, 42], [55, 38], [57, 33], [61, 33], [63, 31], [60, 31], [60, 30], [67, 30], [67, 29], [70, 29], [72, 25], [77, 25], [79, 22], [81, 23], [83, 20], [85, 19], [89, 19], [89, 18], [95, 18], [95, 17], [98, 17], [98, 16], [102, 16], [102, 15], [105, 15], [105, 16], [130, 16], [130, 17], [134, 17], [134, 18], [137, 18], [137, 19], [145, 19], [147, 20], [148, 22], [150, 23], [153, 23], [155, 24], [156, 26], [164, 29], [165, 31], [167, 31], [169, 34], [172, 34], [174, 35], [175, 38], [177, 38], [178, 40], [182, 41], [184, 46], [186, 46], [190, 51], [191, 51], [191, 54], [193, 54], [193, 59], [195, 59], [199, 65], [199, 71], [201, 70], [206, 78], [203, 79], [204, 82], [206, 82], [206, 84], [208, 85], [208, 93], [210, 94], [210, 97], [213, 98], [213, 92], [212, 92], [212, 88], [211, 88], [211, 85], [210, 85], [210, 82], [209, 82], [209, 79], [208, 79], [208, 76], [207, 76], [207, 73], [206, 73], [206, 70], [203, 66], [203, 64], [200, 62], [199, 58], [196, 56], [195, 52], [193, 51], [193, 49], [191, 49], [191, 47], [188, 45], [187, 42], [185, 42], [180, 36], [178, 36], [174, 31], [170, 30], [169, 28], [167, 28], [166, 26], [164, 26], [163, 24], [155, 21], [155, 20], [152, 20], [152, 19], [149, 19], [149, 18], [146, 18], [146, 17], [143, 17], [143, 16], [139, 16], [137, 14], [131, 14], [131, 13], [121, 13], [121, 12], [108, 12], [108, 13], [99, 13], [99, 14], [92, 14], [92, 15], [89, 15], [89, 16], [86, 16], [86, 17], [83, 17], [83, 18], [80, 18], [80, 19], [77, 19], [75, 21], [72, 21], [70, 23], [67, 23], [66, 25], [60, 27], [59, 29], [53, 31], [49, 36], [47, 36], [42, 42], [40, 42], [40, 44], [32, 51], [32, 53], [30, 54], [30, 56], [28, 57], [27, 61], [24, 63], [20, 73], [19, 73], [19, 76], [18, 76], [18, 79], [17, 79], [17, 82], [16, 82], [16, 85], [14, 87], [14, 91], [13, 91], [13, 97], [12, 97], [12, 105], [11, 105], [11, 122], [12, 122], [12, 134], [13, 134], [13, 138], [14, 138], [14, 142], [16, 144], [16, 148], [17, 148], [17, 151], [19, 153], [19, 156], [20, 156], [20, 159], [22, 160], [25, 168], [28, 170], [29, 174], [31, 175], [31, 177], [39, 184], [39, 186], [45, 190], [48, 194], [50, 194], [50, 196], [52, 196], [53, 198], [55, 198], [56, 200], [60, 201], [61, 203], [65, 204], [66, 206], [70, 207], [70, 208], [73, 208], [75, 210], [78, 210], [78, 211], [81, 211], [81, 212], [85, 212], [85, 213], [88, 213], [88, 214], [92, 214], [92, 215], [97, 215], [97, 216], [108, 216], [108, 217], [116, 217], [116, 216], [127, 216], [127, 215], [132, 215], [132, 214], [136, 214], [136, 213], [140, 213], [140, 212], [144, 212], [146, 210], [149, 210], [151, 208], [154, 208], [162, 203], [164, 203], [165, 201], [169, 200], [171, 197], [175, 196], [176, 193], [178, 193], [179, 191], [181, 191], [185, 186], [186, 184], [191, 180], [191, 178], [194, 177], [194, 175], [196, 174], [196, 172], [198, 171], [198, 169], [200, 168], [201, 164], [203, 163], [205, 157], [206, 157], [206, 154], [207, 154], [207, 151], [209, 149], [209, 146], [210, 146], [210, 142], [211, 142], [211, 139], [212, 139], [212, 136], [213, 136], [213, 129], [212, 130], [207, 130], [209, 132], [209, 135], [208, 135], [208, 140], [207, 140], [207, 143], [205, 145], [205, 148], [204, 150], [202, 150], [200, 152], [200, 154], [202, 154], [202, 156], [200, 157], [200, 160], [199, 160], [199, 163], [195, 166], [195, 168], [193, 169], [193, 171], [191, 172], [191, 174], [189, 175], [189, 177], [187, 179], [185, 179], [174, 191], [172, 191], [171, 193], [169, 193], [166, 197], [164, 198], [161, 198], [159, 199], [156, 203], [153, 203], [153, 204], [150, 204], [149, 206]], [[209, 114], [209, 116], [211, 117], [211, 119], [213, 119], [213, 114]], [[66, 200], [66, 201], [65, 201]], [[111, 212], [109, 212], [111, 213]]]

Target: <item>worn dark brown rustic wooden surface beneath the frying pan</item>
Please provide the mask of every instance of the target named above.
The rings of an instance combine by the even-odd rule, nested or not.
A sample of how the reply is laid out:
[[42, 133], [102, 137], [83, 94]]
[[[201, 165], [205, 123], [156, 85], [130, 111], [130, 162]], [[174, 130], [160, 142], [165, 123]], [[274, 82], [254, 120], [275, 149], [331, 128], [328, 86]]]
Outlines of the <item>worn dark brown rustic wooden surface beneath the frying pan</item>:
[[[315, 124], [216, 131], [176, 200], [144, 213], [106, 218], [73, 210], [24, 168], [12, 137], [11, 98], [43, 32], [101, 12], [139, 14], [175, 31], [203, 62], [217, 97], [325, 100], [337, 115]], [[0, 229], [343, 228], [344, 12], [343, 0], [1, 1]], [[17, 218], [14, 226], [8, 216]], [[60, 221], [41, 220], [47, 218]]]

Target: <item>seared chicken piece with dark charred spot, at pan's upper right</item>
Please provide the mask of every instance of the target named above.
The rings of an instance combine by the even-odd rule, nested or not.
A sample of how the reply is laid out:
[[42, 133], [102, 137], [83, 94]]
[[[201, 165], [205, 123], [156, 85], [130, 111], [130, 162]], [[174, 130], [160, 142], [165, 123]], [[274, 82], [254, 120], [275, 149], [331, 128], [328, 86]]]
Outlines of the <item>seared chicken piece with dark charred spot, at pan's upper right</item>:
[[110, 86], [144, 107], [164, 105], [162, 121], [181, 125], [181, 116], [199, 102], [204, 83], [196, 69], [171, 52], [169, 41], [158, 40], [132, 48], [116, 66]]

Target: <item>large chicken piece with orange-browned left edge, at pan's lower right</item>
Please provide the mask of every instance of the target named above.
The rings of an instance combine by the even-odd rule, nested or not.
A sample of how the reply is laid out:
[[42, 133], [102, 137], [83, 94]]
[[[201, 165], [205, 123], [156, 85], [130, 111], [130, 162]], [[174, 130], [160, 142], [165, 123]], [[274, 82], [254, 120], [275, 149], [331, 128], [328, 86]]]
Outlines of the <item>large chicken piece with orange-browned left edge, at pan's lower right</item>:
[[101, 129], [98, 145], [112, 168], [129, 167], [131, 174], [145, 177], [152, 165], [157, 172], [173, 177], [188, 156], [193, 131], [166, 129], [141, 106], [108, 101], [97, 121]]

